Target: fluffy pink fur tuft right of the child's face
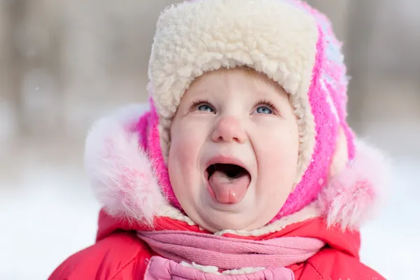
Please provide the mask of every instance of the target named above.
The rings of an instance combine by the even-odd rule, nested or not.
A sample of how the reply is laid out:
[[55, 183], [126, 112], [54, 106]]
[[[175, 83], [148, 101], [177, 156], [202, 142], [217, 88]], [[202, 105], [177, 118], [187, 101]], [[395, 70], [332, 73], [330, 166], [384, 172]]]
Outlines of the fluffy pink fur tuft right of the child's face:
[[359, 228], [383, 201], [391, 165], [377, 149], [356, 141], [356, 157], [331, 179], [318, 197], [328, 225]]

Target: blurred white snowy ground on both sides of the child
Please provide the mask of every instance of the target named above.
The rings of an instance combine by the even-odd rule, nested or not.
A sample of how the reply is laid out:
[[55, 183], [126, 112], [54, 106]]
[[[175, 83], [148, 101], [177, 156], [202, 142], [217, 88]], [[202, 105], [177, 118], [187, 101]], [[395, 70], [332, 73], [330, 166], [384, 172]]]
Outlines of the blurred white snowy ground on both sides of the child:
[[[99, 205], [83, 174], [83, 147], [41, 142], [15, 141], [0, 151], [1, 280], [47, 279], [94, 241]], [[418, 155], [395, 157], [390, 201], [363, 228], [362, 260], [387, 279], [418, 279], [419, 169]]]

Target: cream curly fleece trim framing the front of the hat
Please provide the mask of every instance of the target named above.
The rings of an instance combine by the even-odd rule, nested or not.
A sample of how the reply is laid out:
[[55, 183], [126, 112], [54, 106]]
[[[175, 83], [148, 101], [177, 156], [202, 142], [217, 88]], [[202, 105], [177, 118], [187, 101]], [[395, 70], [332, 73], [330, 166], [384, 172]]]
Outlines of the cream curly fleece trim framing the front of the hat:
[[164, 157], [171, 119], [190, 83], [207, 71], [246, 65], [290, 94], [300, 126], [300, 181], [316, 136], [307, 93], [317, 41], [315, 18], [286, 1], [198, 0], [167, 8], [158, 20], [148, 69]]

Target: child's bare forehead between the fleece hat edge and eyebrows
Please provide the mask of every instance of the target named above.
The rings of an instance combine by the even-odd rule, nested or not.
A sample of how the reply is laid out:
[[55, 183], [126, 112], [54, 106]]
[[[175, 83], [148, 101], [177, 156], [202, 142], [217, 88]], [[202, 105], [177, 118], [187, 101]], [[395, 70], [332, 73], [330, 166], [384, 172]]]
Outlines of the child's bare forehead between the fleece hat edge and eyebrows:
[[260, 93], [262, 95], [287, 95], [278, 83], [269, 79], [265, 74], [258, 73], [248, 67], [232, 69], [218, 69], [204, 73], [193, 80], [185, 95], [209, 94], [227, 90], [241, 90]]

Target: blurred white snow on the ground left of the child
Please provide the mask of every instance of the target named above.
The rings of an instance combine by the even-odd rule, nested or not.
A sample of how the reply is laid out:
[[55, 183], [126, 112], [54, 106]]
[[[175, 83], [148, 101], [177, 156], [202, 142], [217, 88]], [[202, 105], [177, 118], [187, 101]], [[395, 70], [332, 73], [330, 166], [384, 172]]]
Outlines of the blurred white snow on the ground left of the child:
[[11, 148], [13, 157], [0, 154], [1, 280], [47, 279], [69, 255], [92, 244], [97, 230], [99, 204], [83, 167], [58, 152], [71, 147], [26, 142]]

